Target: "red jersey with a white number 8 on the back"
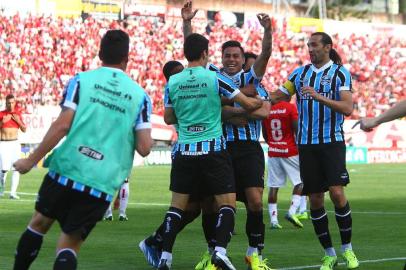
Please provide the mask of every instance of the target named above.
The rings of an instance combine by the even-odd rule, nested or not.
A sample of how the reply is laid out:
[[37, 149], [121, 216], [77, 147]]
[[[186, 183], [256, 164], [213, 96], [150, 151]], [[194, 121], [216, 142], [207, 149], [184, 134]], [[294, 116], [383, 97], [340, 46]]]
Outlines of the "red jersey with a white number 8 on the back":
[[291, 157], [298, 155], [293, 121], [297, 121], [294, 104], [281, 101], [271, 106], [268, 118], [263, 120], [269, 145], [269, 157]]

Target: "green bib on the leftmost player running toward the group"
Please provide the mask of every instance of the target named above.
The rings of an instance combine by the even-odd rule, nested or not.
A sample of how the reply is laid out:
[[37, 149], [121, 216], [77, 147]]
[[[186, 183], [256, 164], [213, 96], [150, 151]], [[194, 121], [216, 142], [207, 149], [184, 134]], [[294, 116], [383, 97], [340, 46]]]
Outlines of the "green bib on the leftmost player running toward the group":
[[114, 196], [132, 168], [145, 92], [124, 72], [106, 67], [80, 73], [79, 84], [71, 128], [49, 169]]

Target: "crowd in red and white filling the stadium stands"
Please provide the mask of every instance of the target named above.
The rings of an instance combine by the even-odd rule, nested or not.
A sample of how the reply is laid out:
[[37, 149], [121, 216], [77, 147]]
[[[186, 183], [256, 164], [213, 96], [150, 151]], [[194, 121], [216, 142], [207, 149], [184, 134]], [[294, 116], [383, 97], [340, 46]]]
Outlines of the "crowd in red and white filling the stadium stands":
[[[131, 37], [127, 72], [151, 96], [154, 113], [163, 112], [161, 72], [168, 60], [182, 60], [181, 22], [136, 19], [127, 22], [88, 18], [0, 15], [0, 100], [13, 93], [21, 110], [58, 104], [63, 86], [75, 73], [96, 68], [100, 37], [107, 29], [123, 28]], [[259, 53], [260, 30], [214, 24], [195, 25], [210, 39], [210, 55], [221, 66], [221, 44], [240, 41], [246, 51]], [[353, 117], [372, 116], [406, 98], [406, 39], [367, 35], [334, 36], [335, 48], [353, 75]], [[403, 55], [402, 55], [403, 53]], [[286, 24], [276, 27], [273, 53], [263, 83], [276, 89], [299, 64], [308, 62], [306, 35], [293, 34]], [[0, 104], [1, 105], [1, 104]], [[0, 106], [1, 107], [1, 106]]]

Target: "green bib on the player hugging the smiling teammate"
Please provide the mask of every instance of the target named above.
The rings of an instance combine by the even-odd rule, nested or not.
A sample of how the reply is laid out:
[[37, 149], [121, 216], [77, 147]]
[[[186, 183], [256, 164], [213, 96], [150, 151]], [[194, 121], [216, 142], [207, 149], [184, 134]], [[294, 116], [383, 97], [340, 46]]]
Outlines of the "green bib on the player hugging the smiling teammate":
[[222, 135], [221, 101], [214, 71], [186, 68], [168, 82], [178, 119], [179, 143], [195, 143]]

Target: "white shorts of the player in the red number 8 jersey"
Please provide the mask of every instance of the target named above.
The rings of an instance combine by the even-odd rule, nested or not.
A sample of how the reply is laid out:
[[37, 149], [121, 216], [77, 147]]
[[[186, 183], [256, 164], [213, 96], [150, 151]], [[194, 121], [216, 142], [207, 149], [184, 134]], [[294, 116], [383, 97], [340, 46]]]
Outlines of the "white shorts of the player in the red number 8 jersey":
[[293, 186], [302, 183], [299, 170], [299, 155], [292, 157], [268, 157], [268, 187], [283, 187], [289, 177]]

